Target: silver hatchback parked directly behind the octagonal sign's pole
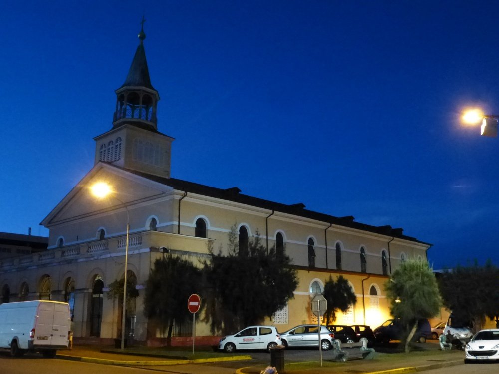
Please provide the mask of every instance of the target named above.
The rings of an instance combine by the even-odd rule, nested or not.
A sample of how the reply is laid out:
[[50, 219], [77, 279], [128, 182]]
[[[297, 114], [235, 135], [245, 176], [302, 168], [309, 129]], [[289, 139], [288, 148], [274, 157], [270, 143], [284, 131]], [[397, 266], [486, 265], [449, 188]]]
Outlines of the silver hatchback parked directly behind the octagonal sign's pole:
[[[319, 327], [317, 325], [299, 325], [281, 334], [282, 344], [287, 347], [319, 347]], [[320, 325], [320, 346], [323, 350], [331, 349], [334, 334], [324, 325]]]

